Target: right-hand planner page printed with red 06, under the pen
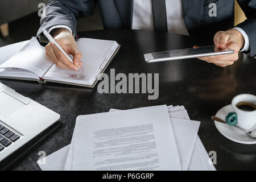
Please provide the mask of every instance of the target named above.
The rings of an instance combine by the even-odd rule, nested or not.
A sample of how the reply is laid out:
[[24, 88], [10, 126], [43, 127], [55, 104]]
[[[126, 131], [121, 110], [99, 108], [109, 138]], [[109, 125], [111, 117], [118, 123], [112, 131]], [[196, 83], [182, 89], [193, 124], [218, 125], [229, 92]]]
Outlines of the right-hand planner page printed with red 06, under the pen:
[[99, 68], [104, 61], [106, 63], [118, 47], [116, 42], [110, 40], [80, 38], [76, 43], [82, 53], [83, 66], [80, 71], [58, 68], [53, 65], [43, 76], [45, 80], [90, 85], [94, 81], [92, 78], [96, 76], [97, 71], [100, 71]]

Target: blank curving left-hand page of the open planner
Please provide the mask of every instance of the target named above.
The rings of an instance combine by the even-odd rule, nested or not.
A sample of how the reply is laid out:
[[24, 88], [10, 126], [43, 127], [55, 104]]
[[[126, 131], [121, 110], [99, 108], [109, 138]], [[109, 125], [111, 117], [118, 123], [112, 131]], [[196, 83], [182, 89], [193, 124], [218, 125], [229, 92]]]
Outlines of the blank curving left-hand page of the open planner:
[[45, 55], [44, 47], [33, 37], [18, 53], [1, 64], [0, 68], [26, 69], [41, 77], [52, 64]]

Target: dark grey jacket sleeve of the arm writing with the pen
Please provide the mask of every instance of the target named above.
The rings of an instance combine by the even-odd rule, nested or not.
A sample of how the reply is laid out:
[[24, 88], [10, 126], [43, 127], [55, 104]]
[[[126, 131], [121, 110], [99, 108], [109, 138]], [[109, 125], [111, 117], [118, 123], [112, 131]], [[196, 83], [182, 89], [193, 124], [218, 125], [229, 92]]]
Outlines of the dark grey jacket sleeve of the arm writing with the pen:
[[92, 15], [95, 9], [95, 0], [53, 0], [49, 1], [45, 9], [45, 15], [40, 20], [40, 28], [36, 35], [39, 43], [46, 46], [47, 38], [43, 35], [43, 30], [56, 24], [64, 24], [72, 29], [76, 37], [76, 23], [79, 14]]

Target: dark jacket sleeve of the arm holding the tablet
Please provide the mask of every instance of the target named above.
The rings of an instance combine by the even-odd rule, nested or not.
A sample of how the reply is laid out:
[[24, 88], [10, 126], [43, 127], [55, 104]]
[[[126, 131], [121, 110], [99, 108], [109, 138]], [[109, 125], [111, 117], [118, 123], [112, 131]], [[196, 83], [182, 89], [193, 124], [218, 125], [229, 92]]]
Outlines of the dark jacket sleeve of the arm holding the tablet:
[[237, 27], [242, 28], [249, 37], [250, 56], [256, 55], [256, 0], [238, 0], [247, 19], [238, 24]]

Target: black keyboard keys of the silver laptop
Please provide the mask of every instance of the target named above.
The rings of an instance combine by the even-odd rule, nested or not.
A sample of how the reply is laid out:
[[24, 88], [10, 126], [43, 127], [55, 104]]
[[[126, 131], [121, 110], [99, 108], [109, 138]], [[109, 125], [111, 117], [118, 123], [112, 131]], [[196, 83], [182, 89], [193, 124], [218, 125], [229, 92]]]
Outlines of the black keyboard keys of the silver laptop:
[[0, 124], [0, 151], [19, 139], [19, 135]]

